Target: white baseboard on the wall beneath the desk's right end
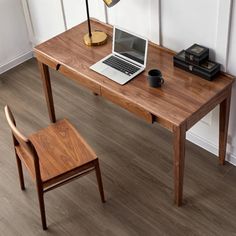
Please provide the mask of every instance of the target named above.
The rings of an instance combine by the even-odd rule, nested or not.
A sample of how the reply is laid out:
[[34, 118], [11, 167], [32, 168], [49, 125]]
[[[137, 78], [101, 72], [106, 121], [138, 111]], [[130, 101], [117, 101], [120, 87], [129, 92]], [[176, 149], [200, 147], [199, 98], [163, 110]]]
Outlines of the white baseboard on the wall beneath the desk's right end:
[[[207, 139], [204, 139], [204, 138], [200, 137], [199, 135], [196, 135], [190, 131], [187, 132], [186, 138], [190, 142], [206, 149], [207, 151], [213, 153], [214, 155], [218, 155], [218, 146], [214, 143], [209, 142]], [[226, 155], [226, 161], [228, 161], [232, 165], [236, 166], [236, 155], [228, 152]]]

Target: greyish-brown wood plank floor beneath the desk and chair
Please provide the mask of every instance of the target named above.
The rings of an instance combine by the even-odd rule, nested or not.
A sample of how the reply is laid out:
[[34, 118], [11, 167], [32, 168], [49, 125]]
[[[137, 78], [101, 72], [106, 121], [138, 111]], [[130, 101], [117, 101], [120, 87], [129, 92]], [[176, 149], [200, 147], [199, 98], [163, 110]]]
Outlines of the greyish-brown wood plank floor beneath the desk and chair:
[[107, 202], [92, 173], [45, 195], [48, 231], [26, 174], [21, 192], [8, 103], [26, 134], [49, 124], [35, 60], [0, 75], [0, 235], [236, 235], [236, 167], [187, 143], [183, 207], [173, 204], [172, 135], [52, 72], [57, 118], [100, 158]]

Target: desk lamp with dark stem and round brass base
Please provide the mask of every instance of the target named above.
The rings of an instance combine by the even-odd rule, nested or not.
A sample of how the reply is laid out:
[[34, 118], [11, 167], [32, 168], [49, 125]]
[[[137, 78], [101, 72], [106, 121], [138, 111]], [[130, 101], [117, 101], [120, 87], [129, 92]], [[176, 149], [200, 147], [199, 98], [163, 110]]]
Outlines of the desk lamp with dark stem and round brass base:
[[[103, 0], [108, 7], [113, 7], [116, 3], [118, 3], [120, 0]], [[88, 6], [88, 0], [86, 0], [86, 10], [87, 10], [87, 18], [88, 18], [88, 30], [89, 32], [84, 35], [84, 43], [88, 46], [99, 46], [103, 45], [107, 41], [107, 35], [106, 33], [102, 31], [91, 31], [91, 25], [90, 25], [90, 16], [89, 16], [89, 6]]]

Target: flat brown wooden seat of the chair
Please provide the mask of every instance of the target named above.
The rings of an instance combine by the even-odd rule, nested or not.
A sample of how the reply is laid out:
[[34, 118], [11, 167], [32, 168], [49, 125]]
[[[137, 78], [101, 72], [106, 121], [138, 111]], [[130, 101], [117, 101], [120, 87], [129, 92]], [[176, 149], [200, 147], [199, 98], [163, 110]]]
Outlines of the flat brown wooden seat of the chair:
[[[50, 182], [97, 159], [96, 154], [66, 119], [60, 120], [29, 137], [39, 156], [41, 179]], [[35, 179], [33, 159], [20, 146], [16, 152]]]

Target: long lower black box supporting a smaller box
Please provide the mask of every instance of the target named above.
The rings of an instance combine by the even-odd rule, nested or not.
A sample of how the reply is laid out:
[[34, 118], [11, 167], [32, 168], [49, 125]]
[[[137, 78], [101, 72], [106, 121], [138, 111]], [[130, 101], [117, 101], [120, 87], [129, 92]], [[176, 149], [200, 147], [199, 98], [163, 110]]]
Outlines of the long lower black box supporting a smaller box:
[[186, 51], [183, 50], [174, 56], [174, 66], [189, 71], [207, 80], [213, 80], [220, 72], [220, 64], [206, 60], [200, 65], [193, 65], [185, 61]]

